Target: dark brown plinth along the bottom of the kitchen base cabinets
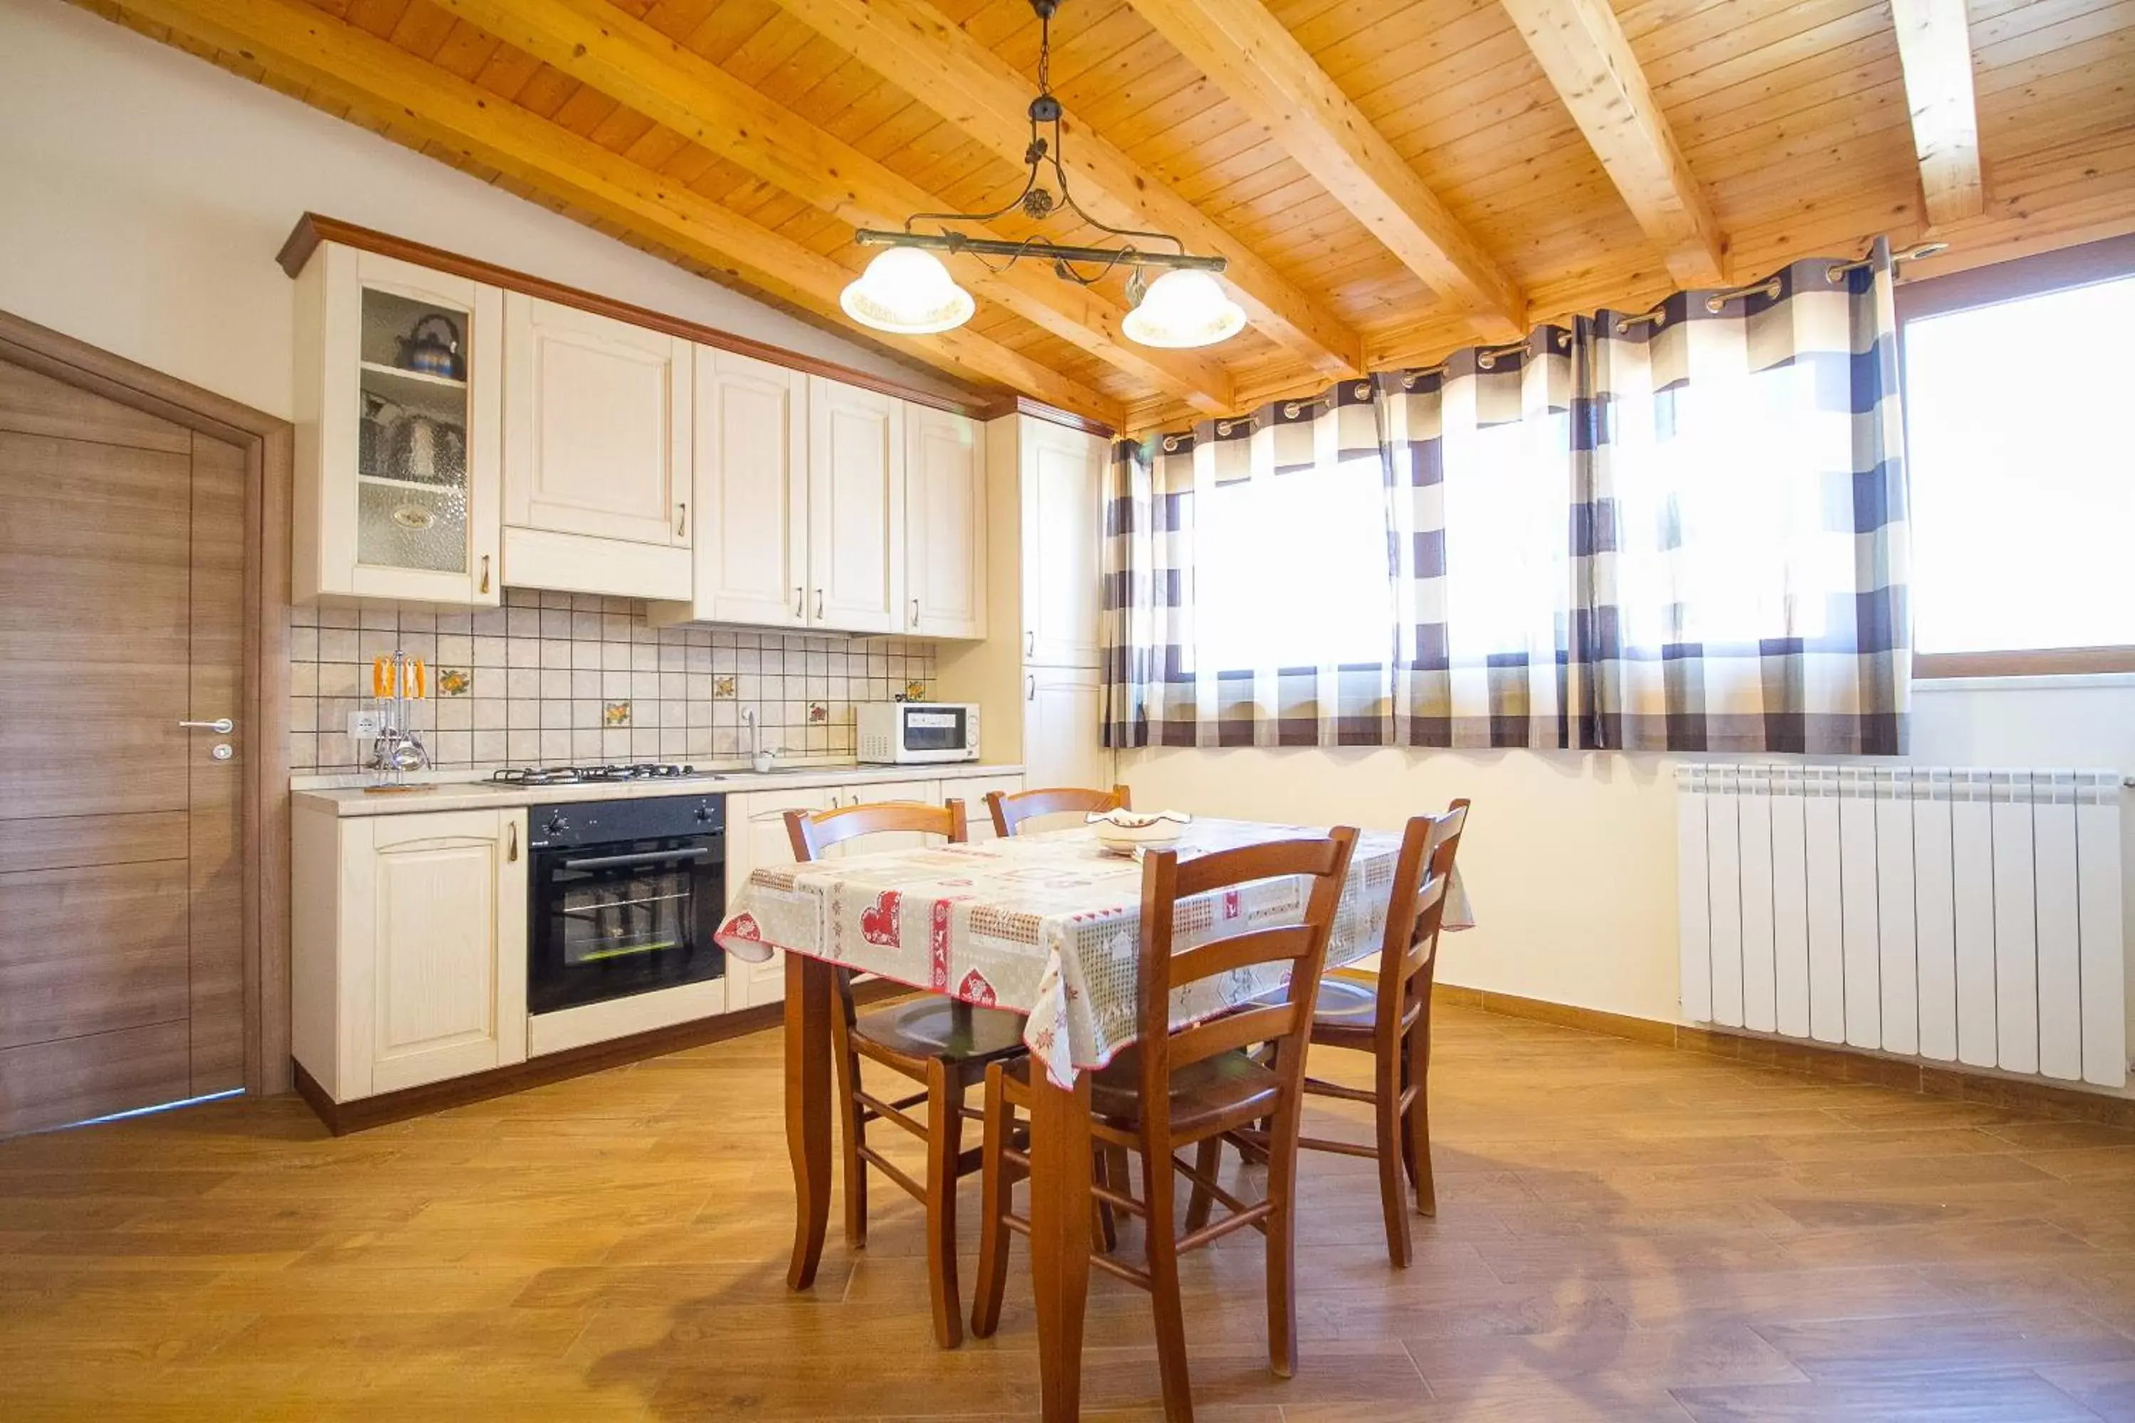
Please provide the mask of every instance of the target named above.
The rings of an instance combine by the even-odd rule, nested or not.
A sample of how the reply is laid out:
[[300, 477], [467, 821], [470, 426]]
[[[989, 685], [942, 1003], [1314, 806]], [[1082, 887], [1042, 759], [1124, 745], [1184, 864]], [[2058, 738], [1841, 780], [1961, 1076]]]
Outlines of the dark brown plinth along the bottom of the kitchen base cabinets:
[[[910, 992], [912, 990], [903, 984], [890, 984], [888, 979], [852, 986], [854, 1003], [880, 1003], [882, 998], [899, 998]], [[327, 1094], [327, 1088], [318, 1086], [312, 1073], [303, 1071], [301, 1062], [295, 1062], [292, 1067], [297, 1069], [297, 1094], [303, 1097], [318, 1120], [327, 1124], [327, 1131], [337, 1137], [346, 1137], [354, 1131], [369, 1131], [371, 1126], [384, 1126], [389, 1122], [406, 1122], [408, 1118], [429, 1116], [431, 1112], [444, 1112], [446, 1107], [465, 1107], [468, 1103], [489, 1101], [491, 1097], [508, 1097], [512, 1092], [547, 1086], [551, 1082], [564, 1082], [568, 1077], [583, 1077], [608, 1067], [643, 1062], [645, 1058], [662, 1058], [670, 1052], [683, 1052], [685, 1048], [724, 1043], [730, 1037], [745, 1037], [749, 1033], [775, 1028], [784, 1022], [784, 1003], [760, 1003], [732, 1013], [719, 1013], [717, 1018], [698, 1018], [696, 1022], [679, 1022], [668, 1028], [613, 1037], [604, 1043], [549, 1052], [538, 1058], [527, 1058], [525, 1062], [512, 1062], [510, 1067], [493, 1067], [487, 1073], [470, 1073], [446, 1082], [425, 1082], [418, 1088], [401, 1088], [399, 1092], [380, 1092], [378, 1097], [359, 1097], [357, 1101], [339, 1103]]]

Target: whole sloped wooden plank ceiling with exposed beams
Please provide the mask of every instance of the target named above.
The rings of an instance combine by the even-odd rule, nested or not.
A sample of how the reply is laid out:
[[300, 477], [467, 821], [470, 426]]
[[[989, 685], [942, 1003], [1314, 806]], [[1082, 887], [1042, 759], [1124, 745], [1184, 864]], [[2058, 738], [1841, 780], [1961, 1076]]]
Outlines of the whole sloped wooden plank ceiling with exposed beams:
[[[83, 2], [848, 333], [854, 226], [1021, 188], [1038, 64], [1027, 0]], [[978, 316], [880, 343], [1125, 429], [1875, 233], [2135, 230], [2135, 0], [1065, 0], [1053, 87], [1076, 196], [1228, 256], [1247, 331], [956, 258]]]

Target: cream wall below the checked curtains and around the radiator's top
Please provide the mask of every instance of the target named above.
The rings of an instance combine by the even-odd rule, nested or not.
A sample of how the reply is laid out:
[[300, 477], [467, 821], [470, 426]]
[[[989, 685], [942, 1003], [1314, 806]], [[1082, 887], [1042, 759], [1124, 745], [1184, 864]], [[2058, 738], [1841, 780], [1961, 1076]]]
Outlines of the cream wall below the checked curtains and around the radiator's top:
[[[1921, 683], [1909, 760], [2135, 772], [2135, 676]], [[1445, 937], [1439, 979], [1680, 1022], [1672, 766], [1571, 751], [1136, 751], [1121, 779], [1142, 809], [1366, 828], [1467, 796], [1460, 868], [1477, 928]], [[2122, 847], [2135, 885], [2126, 824]]]

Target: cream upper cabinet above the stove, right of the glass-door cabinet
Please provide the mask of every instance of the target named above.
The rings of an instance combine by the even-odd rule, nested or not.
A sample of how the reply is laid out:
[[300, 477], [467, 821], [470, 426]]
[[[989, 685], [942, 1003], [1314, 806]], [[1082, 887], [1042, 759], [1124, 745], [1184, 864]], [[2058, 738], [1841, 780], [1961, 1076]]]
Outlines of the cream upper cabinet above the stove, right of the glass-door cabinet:
[[504, 294], [504, 578], [690, 597], [692, 346]]

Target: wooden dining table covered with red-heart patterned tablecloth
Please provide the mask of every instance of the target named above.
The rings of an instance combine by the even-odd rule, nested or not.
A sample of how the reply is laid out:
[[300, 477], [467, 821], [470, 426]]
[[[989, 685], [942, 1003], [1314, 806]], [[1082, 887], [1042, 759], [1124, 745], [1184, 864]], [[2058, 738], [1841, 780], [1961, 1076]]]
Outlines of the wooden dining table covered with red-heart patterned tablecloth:
[[[1181, 858], [1238, 845], [1324, 836], [1324, 826], [1191, 819]], [[1349, 860], [1328, 966], [1379, 952], [1401, 834], [1364, 832]], [[1296, 922], [1302, 877], [1266, 879], [1187, 900], [1176, 952], [1249, 926]], [[734, 890], [717, 943], [743, 962], [786, 956], [786, 1148], [794, 1171], [788, 1286], [816, 1280], [831, 1220], [831, 1013], [835, 975], [873, 973], [918, 992], [1025, 1013], [1038, 1071], [1029, 1122], [1029, 1246], [1046, 1419], [1080, 1404], [1089, 1293], [1089, 1088], [1134, 1041], [1142, 868], [1089, 826], [1010, 838], [935, 843], [809, 864], [758, 866]], [[1458, 870], [1445, 928], [1473, 913]], [[1281, 966], [1202, 979], [1172, 1001], [1189, 1026], [1281, 988]]]

